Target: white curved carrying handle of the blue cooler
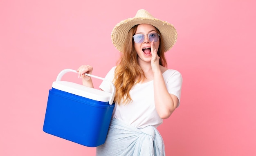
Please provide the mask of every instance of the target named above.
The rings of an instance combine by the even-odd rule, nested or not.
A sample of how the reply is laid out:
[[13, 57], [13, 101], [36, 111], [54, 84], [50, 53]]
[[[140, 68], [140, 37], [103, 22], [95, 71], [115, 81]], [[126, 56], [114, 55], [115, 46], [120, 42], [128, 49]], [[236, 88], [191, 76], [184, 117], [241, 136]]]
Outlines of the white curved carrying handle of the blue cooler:
[[[61, 81], [62, 76], [63, 76], [64, 74], [66, 74], [67, 72], [74, 72], [74, 73], [77, 73], [76, 70], [73, 70], [73, 69], [64, 69], [64, 70], [62, 70], [62, 71], [58, 74], [58, 76], [57, 76], [57, 78], [56, 78], [56, 81]], [[101, 77], [99, 77], [99, 76], [94, 76], [94, 75], [87, 74], [87, 73], [85, 73], [85, 75], [86, 75], [86, 76], [90, 76], [90, 77], [92, 77], [92, 78], [98, 78], [98, 79], [101, 79], [101, 80], [110, 82], [111, 87], [112, 87], [112, 93], [111, 93], [111, 97], [110, 97], [110, 100], [109, 100], [108, 103], [109, 103], [110, 105], [112, 105], [112, 103], [113, 103], [113, 101], [114, 101], [114, 98], [115, 98], [115, 92], [116, 92], [116, 87], [115, 87], [115, 85], [114, 85], [110, 80], [108, 80], [108, 79], [106, 79], [106, 78], [101, 78]]]

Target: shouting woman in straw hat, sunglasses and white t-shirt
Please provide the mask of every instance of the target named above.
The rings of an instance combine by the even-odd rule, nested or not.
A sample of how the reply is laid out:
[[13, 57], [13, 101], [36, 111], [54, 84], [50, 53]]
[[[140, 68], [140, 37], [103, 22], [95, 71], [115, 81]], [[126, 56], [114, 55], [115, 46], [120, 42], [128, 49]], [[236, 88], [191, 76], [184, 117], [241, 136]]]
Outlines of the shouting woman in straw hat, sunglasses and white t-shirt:
[[[134, 18], [118, 23], [111, 38], [121, 51], [119, 63], [106, 75], [116, 87], [115, 109], [97, 156], [164, 156], [156, 128], [180, 105], [182, 76], [166, 68], [164, 56], [175, 44], [177, 32], [170, 23], [141, 9]], [[84, 73], [91, 74], [92, 69], [83, 65], [77, 70], [88, 87], [93, 87], [92, 80]], [[99, 87], [111, 92], [106, 83]]]

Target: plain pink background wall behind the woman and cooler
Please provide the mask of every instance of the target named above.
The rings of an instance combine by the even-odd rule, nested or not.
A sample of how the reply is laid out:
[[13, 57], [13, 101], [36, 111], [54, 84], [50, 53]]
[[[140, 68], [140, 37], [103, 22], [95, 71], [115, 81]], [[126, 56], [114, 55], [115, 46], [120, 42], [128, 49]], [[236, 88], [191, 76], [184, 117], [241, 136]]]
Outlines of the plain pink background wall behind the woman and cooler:
[[[255, 0], [1, 0], [0, 155], [93, 156], [43, 132], [48, 91], [66, 68], [104, 77], [110, 33], [147, 9], [177, 29], [166, 53], [182, 73], [181, 105], [159, 126], [167, 156], [256, 155]], [[80, 83], [76, 74], [63, 79]], [[95, 87], [100, 82], [95, 80]]]

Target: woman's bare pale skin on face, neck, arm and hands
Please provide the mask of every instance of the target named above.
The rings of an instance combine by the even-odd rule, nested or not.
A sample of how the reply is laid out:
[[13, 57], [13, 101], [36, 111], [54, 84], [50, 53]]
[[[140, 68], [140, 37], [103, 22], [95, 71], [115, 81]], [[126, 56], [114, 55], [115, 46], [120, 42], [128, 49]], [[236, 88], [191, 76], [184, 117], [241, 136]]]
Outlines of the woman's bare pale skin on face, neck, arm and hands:
[[[157, 55], [159, 47], [159, 40], [157, 42], [150, 42], [148, 39], [148, 33], [157, 32], [155, 27], [148, 24], [140, 24], [137, 27], [137, 33], [143, 33], [145, 35], [144, 42], [135, 43], [135, 50], [138, 55], [139, 66], [143, 69], [146, 78], [139, 82], [145, 83], [154, 80], [154, 98], [155, 109], [160, 118], [166, 119], [175, 110], [178, 103], [177, 96], [169, 94], [164, 82], [163, 73], [167, 68], [159, 65], [160, 57]], [[146, 54], [142, 49], [150, 47], [151, 53]], [[82, 78], [83, 85], [93, 87], [92, 79], [89, 76], [85, 76], [85, 73], [91, 74], [93, 67], [90, 65], [83, 65], [77, 69], [79, 78]]]

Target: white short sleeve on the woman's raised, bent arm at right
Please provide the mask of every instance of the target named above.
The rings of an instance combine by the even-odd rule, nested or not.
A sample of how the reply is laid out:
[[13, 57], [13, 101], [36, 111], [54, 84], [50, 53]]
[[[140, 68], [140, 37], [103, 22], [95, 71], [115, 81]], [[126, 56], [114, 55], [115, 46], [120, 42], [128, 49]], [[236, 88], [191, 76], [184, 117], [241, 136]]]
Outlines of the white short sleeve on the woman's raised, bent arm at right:
[[167, 72], [163, 74], [164, 80], [166, 82], [166, 88], [169, 94], [177, 96], [178, 103], [177, 107], [180, 106], [180, 95], [182, 88], [182, 75], [179, 71], [168, 69]]

